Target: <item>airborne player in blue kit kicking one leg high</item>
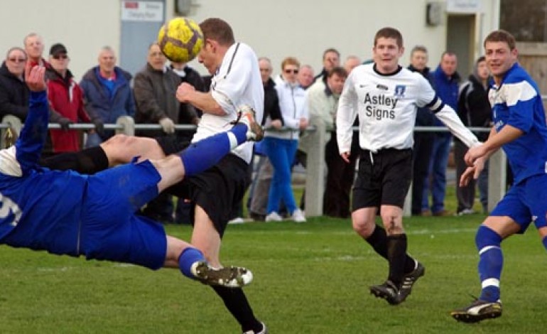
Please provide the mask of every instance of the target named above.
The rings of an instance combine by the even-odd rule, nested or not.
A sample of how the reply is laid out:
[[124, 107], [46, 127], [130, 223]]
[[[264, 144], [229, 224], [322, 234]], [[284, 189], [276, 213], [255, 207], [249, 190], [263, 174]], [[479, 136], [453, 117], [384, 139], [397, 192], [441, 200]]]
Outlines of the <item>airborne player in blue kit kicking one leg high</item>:
[[251, 271], [212, 268], [198, 249], [166, 235], [161, 224], [135, 212], [168, 186], [213, 166], [247, 139], [261, 139], [254, 112], [240, 108], [239, 123], [230, 131], [161, 160], [134, 161], [93, 176], [52, 171], [38, 165], [48, 131], [44, 70], [26, 65], [31, 90], [28, 117], [15, 145], [0, 151], [0, 243], [154, 270], [179, 268], [209, 285], [249, 284]]

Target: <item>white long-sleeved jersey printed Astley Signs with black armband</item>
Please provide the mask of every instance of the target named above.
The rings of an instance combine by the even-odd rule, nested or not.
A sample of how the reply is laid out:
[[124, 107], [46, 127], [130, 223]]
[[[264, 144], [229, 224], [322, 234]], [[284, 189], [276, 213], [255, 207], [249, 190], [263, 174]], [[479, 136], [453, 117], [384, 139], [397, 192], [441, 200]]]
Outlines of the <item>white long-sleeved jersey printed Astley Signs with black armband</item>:
[[340, 153], [351, 151], [357, 115], [362, 149], [411, 149], [417, 107], [428, 107], [467, 146], [478, 143], [421, 74], [399, 68], [394, 74], [381, 75], [372, 63], [354, 68], [340, 95], [336, 116]]

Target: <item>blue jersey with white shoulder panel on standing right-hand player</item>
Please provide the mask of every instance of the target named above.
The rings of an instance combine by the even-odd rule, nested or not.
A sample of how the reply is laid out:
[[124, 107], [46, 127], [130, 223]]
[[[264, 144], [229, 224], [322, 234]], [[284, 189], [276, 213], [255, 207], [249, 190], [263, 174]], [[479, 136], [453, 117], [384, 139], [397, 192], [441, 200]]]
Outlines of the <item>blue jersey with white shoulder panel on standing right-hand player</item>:
[[494, 126], [499, 132], [507, 124], [524, 135], [503, 146], [514, 183], [547, 173], [547, 126], [545, 110], [536, 82], [515, 63], [502, 84], [489, 91]]

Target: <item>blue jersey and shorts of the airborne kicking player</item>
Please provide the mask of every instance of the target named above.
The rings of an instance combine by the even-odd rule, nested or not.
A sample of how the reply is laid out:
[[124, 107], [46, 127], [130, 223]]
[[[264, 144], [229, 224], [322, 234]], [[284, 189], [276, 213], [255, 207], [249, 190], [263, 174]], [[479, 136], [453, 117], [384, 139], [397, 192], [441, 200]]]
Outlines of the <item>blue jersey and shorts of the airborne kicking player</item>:
[[0, 151], [0, 243], [158, 269], [167, 239], [158, 222], [134, 214], [158, 195], [150, 161], [84, 176], [38, 166], [48, 131], [45, 92], [31, 93], [16, 144]]

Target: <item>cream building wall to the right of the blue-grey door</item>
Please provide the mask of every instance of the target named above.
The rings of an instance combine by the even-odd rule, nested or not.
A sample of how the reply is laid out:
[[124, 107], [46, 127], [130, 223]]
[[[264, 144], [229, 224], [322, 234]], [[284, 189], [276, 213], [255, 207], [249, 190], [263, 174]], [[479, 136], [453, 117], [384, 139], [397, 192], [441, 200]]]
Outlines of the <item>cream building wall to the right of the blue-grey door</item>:
[[[167, 0], [167, 8], [173, 8]], [[497, 28], [499, 0], [479, 0], [483, 11], [480, 31]], [[318, 72], [322, 68], [323, 50], [334, 47], [342, 54], [371, 58], [374, 33], [384, 26], [398, 28], [403, 34], [406, 53], [402, 60], [408, 65], [410, 50], [425, 45], [430, 53], [430, 67], [435, 68], [446, 45], [446, 24], [426, 25], [428, 0], [193, 0], [188, 16], [195, 21], [220, 17], [229, 22], [238, 41], [254, 48], [259, 56], [267, 56], [279, 72], [281, 60], [296, 56]], [[444, 1], [441, 1], [444, 2]], [[173, 13], [167, 13], [167, 17]], [[479, 25], [477, 25], [479, 26]], [[480, 43], [477, 42], [477, 45]], [[477, 51], [479, 53], [480, 51]], [[199, 70], [202, 70], [197, 65]]]

